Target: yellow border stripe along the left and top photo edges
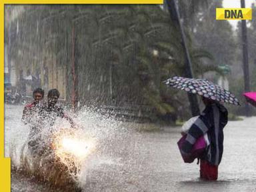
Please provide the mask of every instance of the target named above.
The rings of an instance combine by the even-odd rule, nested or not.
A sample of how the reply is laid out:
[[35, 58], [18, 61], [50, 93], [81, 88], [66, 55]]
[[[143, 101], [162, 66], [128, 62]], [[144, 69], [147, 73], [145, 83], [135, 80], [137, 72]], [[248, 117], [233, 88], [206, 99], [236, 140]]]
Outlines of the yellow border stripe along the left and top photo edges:
[[0, 37], [1, 37], [1, 63], [0, 63], [0, 192], [11, 191], [11, 159], [5, 158], [5, 129], [4, 129], [4, 9], [5, 4], [163, 4], [163, 0], [87, 0], [87, 1], [70, 1], [70, 0], [3, 0], [0, 1]]

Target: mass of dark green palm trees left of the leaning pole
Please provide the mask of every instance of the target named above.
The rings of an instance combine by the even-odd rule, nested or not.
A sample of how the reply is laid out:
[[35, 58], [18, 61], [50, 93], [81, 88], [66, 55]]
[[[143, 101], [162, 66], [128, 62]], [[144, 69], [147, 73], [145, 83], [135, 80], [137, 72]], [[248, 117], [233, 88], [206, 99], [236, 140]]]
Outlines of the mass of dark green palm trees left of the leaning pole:
[[[159, 5], [69, 5], [56, 10], [45, 8], [40, 14], [25, 14], [24, 22], [26, 17], [33, 19], [24, 28], [36, 25], [34, 18], [40, 15], [40, 37], [34, 35], [29, 42], [41, 45], [42, 61], [43, 54], [49, 53], [57, 65], [66, 66], [68, 93], [72, 87], [69, 74], [74, 26], [77, 91], [82, 103], [136, 103], [151, 105], [159, 115], [176, 113], [177, 91], [161, 82], [172, 75], [185, 75], [185, 57], [181, 56], [185, 49], [180, 43], [181, 33], [166, 11]], [[25, 45], [23, 41], [21, 44]], [[207, 51], [195, 49], [192, 41], [187, 45], [193, 65], [215, 71], [214, 67], [199, 65], [202, 57], [211, 59]], [[194, 73], [199, 75], [201, 71]]]

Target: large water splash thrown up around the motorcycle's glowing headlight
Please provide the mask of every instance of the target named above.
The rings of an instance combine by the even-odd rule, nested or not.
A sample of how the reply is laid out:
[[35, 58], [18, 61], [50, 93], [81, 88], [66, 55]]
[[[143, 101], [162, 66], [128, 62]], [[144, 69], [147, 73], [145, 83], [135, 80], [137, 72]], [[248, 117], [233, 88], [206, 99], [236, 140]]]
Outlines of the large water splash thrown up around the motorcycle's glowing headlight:
[[[69, 123], [63, 119], [57, 119], [51, 129], [43, 127], [40, 130], [43, 138], [41, 145], [53, 143], [55, 153], [32, 157], [27, 147], [30, 127], [20, 121], [22, 107], [16, 106], [18, 110], [15, 114], [9, 113], [13, 111], [10, 107], [13, 106], [6, 107], [5, 129], [9, 133], [6, 141], [12, 144], [5, 142], [9, 146], [5, 154], [11, 156], [15, 169], [28, 175], [36, 173], [39, 178], [54, 185], [66, 185], [63, 181], [68, 180], [74, 181], [77, 186], [85, 186], [90, 182], [88, 178], [92, 172], [104, 172], [109, 167], [121, 170], [124, 162], [128, 165], [135, 162], [132, 155], [135, 143], [131, 139], [134, 129], [125, 128], [120, 119], [117, 121], [107, 111], [88, 107], [78, 111], [77, 115], [69, 114], [79, 129], [70, 131]], [[13, 130], [21, 131], [23, 136], [19, 137], [19, 132], [14, 133]], [[63, 170], [67, 173], [60, 175]]]

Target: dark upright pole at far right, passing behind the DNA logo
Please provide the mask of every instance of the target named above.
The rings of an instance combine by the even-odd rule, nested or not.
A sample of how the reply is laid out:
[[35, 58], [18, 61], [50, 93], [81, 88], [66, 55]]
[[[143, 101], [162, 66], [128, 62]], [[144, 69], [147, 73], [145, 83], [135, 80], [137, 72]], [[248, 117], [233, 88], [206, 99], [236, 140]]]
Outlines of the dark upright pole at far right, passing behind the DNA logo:
[[[245, 8], [245, 0], [241, 0], [241, 8]], [[250, 77], [249, 77], [249, 61], [248, 61], [248, 41], [247, 41], [247, 26], [246, 20], [242, 20], [242, 43], [243, 43], [243, 77], [245, 82], [245, 92], [250, 91]], [[251, 108], [248, 103], [245, 103], [245, 115], [251, 116]]]

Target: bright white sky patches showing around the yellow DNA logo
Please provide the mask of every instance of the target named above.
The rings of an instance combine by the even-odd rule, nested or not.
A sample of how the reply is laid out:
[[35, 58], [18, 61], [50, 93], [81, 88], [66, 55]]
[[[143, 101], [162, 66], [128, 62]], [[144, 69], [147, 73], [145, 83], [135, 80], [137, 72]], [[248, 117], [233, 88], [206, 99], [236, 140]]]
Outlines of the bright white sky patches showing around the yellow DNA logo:
[[[245, 7], [251, 7], [251, 3], [256, 4], [256, 0], [245, 0]], [[223, 8], [241, 8], [240, 0], [223, 0]], [[233, 28], [237, 27], [237, 20], [229, 21]]]

